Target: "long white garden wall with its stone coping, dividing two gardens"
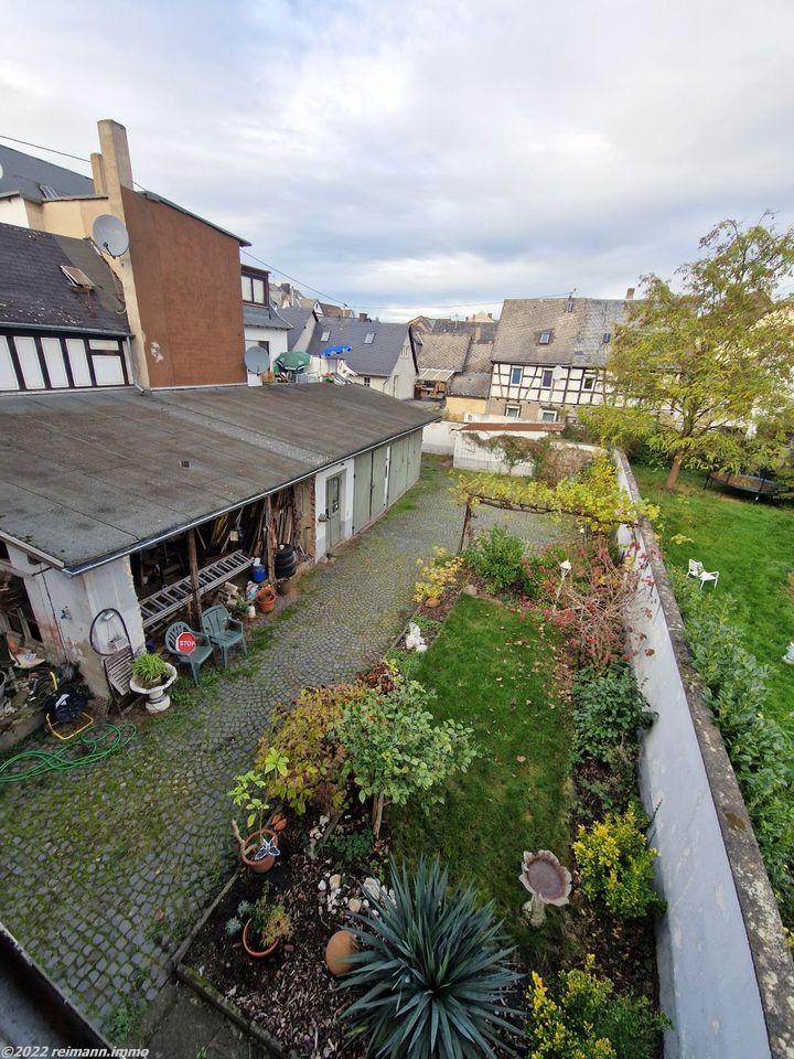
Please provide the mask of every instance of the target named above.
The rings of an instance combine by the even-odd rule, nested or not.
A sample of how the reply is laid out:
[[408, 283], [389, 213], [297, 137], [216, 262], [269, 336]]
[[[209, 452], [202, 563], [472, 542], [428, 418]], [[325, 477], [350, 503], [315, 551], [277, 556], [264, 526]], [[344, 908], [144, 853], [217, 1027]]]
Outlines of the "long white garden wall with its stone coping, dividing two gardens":
[[[620, 452], [616, 462], [639, 498]], [[622, 527], [622, 544], [632, 536], [650, 561], [630, 624], [647, 638], [634, 668], [658, 714], [640, 781], [667, 901], [657, 928], [661, 1001], [674, 1024], [665, 1059], [783, 1059], [794, 1055], [794, 971], [777, 906], [647, 520]]]

